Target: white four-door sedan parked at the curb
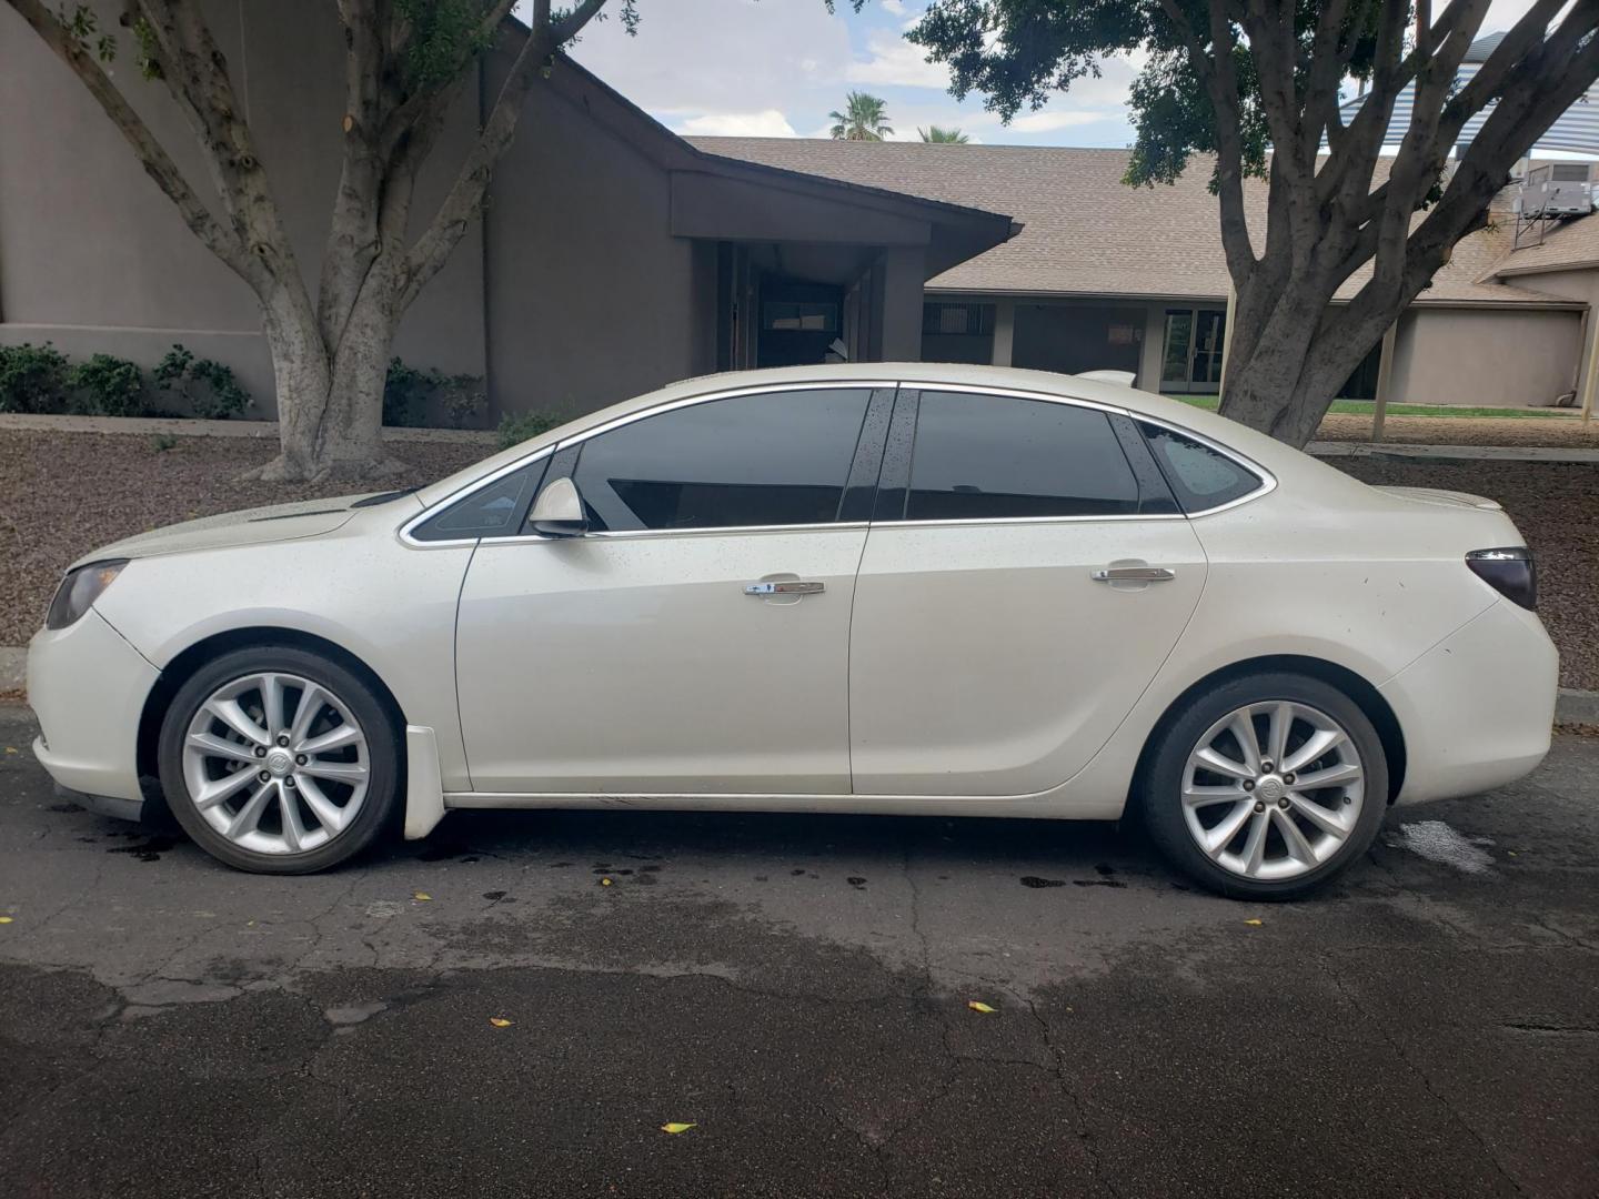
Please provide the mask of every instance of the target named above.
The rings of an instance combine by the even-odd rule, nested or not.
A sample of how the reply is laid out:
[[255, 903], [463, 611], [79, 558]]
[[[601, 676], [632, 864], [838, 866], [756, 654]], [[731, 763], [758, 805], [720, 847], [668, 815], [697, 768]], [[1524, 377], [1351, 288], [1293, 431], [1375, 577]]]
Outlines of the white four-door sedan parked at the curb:
[[1102, 380], [843, 364], [107, 545], [29, 697], [62, 788], [165, 796], [253, 871], [457, 807], [1134, 809], [1204, 886], [1279, 898], [1390, 804], [1538, 764], [1533, 606], [1492, 500]]

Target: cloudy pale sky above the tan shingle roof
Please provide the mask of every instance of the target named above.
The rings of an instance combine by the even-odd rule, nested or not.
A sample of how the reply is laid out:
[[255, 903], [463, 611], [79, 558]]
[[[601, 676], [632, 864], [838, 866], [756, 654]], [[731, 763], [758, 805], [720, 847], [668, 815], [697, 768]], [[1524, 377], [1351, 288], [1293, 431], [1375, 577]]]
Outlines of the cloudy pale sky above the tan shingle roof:
[[[1532, 0], [1493, 0], [1484, 32], [1508, 27]], [[924, 0], [640, 0], [638, 37], [619, 21], [590, 26], [572, 56], [678, 133], [825, 137], [827, 114], [851, 90], [887, 101], [895, 137], [956, 125], [972, 141], [1041, 145], [1126, 145], [1127, 85], [1137, 62], [1105, 62], [1103, 77], [1075, 85], [1009, 126], [948, 94], [948, 74], [903, 38]]]

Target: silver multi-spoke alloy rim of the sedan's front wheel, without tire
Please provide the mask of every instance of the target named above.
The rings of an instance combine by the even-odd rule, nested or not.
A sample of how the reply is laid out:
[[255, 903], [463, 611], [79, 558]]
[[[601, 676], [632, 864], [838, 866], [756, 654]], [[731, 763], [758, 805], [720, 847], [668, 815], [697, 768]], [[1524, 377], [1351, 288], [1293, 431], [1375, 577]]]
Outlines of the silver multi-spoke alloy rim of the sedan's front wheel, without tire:
[[318, 683], [256, 673], [224, 683], [184, 735], [184, 783], [217, 833], [256, 854], [302, 854], [366, 799], [366, 734]]

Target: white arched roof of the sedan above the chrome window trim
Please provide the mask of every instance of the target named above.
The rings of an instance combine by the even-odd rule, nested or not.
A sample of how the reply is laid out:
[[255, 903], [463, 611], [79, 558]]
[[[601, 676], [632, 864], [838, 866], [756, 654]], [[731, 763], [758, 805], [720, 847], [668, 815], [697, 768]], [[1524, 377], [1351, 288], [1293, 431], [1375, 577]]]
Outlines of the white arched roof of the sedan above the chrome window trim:
[[528, 457], [547, 446], [560, 444], [563, 440], [576, 436], [596, 425], [609, 424], [620, 417], [632, 416], [662, 404], [680, 400], [692, 400], [700, 395], [713, 395], [731, 390], [760, 390], [763, 387], [795, 387], [804, 384], [815, 385], [857, 385], [857, 387], [894, 387], [899, 384], [913, 387], [940, 388], [999, 388], [1033, 395], [1062, 396], [1068, 400], [1087, 400], [1095, 404], [1118, 408], [1132, 416], [1148, 416], [1178, 428], [1188, 428], [1201, 436], [1218, 441], [1230, 449], [1254, 459], [1266, 470], [1276, 473], [1279, 468], [1294, 468], [1295, 460], [1308, 459], [1297, 449], [1281, 441], [1258, 433], [1236, 420], [1207, 412], [1202, 408], [1185, 404], [1164, 395], [1140, 392], [1134, 387], [1107, 382], [1103, 379], [1084, 379], [1076, 374], [1059, 374], [1055, 371], [1027, 371], [1012, 366], [974, 366], [969, 363], [827, 363], [817, 366], [780, 366], [756, 371], [724, 371], [721, 374], [704, 374], [694, 379], [683, 379], [668, 384], [656, 392], [622, 400], [609, 408], [574, 417], [560, 428], [552, 428], [536, 438], [521, 441], [510, 449], [500, 451], [481, 462], [461, 470], [448, 478], [432, 483], [417, 491], [417, 499], [425, 507], [432, 507], [446, 496], [461, 491], [484, 475], [500, 470], [520, 459]]

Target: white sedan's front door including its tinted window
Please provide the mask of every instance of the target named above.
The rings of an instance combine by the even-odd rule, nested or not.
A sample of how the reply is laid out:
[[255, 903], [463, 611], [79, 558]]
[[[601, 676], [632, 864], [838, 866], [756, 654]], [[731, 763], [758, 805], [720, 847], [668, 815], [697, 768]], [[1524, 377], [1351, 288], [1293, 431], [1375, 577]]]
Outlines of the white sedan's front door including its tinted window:
[[542, 486], [569, 476], [588, 532], [484, 539], [462, 585], [473, 788], [847, 793], [849, 611], [891, 406], [768, 388], [563, 443]]

